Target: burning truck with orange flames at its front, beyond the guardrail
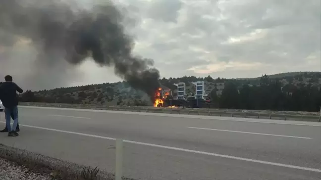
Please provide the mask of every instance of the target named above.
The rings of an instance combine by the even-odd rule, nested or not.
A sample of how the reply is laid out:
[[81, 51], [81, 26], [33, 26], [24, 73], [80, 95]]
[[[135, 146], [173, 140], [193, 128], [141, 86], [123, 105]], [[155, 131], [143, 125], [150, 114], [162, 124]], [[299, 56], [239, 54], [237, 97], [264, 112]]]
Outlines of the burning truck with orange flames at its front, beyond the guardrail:
[[211, 99], [205, 94], [199, 95], [186, 95], [184, 90], [183, 98], [174, 98], [173, 91], [167, 87], [160, 85], [160, 88], [155, 91], [154, 107], [191, 107], [191, 108], [210, 108]]

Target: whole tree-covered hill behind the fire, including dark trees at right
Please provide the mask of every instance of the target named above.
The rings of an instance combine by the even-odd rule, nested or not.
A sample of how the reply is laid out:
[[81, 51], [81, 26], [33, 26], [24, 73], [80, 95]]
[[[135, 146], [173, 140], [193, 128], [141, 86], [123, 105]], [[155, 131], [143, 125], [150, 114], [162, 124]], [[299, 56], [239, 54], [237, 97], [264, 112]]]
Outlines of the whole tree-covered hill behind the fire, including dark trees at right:
[[[221, 108], [318, 111], [321, 106], [321, 72], [289, 72], [258, 78], [224, 79], [184, 76], [163, 78], [160, 84], [173, 90], [184, 82], [186, 93], [194, 93], [192, 82], [205, 81], [206, 92]], [[26, 91], [21, 101], [87, 103], [104, 105], [152, 105], [142, 91], [126, 82], [104, 83], [53, 90]]]

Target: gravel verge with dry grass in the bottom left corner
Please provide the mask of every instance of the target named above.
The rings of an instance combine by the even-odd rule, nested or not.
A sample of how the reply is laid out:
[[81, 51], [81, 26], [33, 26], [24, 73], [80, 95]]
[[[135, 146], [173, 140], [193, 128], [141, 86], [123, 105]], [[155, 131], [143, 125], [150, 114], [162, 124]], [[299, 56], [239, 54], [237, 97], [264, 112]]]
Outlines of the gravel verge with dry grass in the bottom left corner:
[[0, 144], [0, 180], [114, 180], [114, 175]]

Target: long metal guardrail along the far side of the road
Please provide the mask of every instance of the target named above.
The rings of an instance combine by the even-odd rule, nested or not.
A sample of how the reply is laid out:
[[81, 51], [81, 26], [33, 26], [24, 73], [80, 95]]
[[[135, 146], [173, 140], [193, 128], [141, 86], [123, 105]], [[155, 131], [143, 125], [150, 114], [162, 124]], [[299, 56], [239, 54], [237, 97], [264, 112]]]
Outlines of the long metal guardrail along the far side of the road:
[[293, 114], [267, 114], [267, 113], [249, 113], [249, 112], [226, 112], [215, 111], [211, 109], [198, 108], [157, 108], [146, 106], [106, 106], [94, 104], [59, 104], [59, 103], [39, 103], [39, 102], [19, 102], [23, 106], [40, 107], [60, 107], [60, 108], [78, 108], [78, 109], [98, 109], [113, 111], [132, 111], [132, 112], [150, 112], [150, 113], [168, 113], [168, 114], [187, 114], [187, 115], [205, 115], [221, 117], [242, 117], [273, 120], [292, 120], [292, 121], [310, 121], [321, 122], [321, 116], [317, 115], [293, 115]]

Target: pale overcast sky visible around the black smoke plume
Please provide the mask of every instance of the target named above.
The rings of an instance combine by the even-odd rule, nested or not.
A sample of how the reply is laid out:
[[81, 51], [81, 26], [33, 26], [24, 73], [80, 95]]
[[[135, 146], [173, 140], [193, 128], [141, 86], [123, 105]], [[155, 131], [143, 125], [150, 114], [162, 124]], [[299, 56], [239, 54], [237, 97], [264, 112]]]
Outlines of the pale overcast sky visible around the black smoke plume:
[[[124, 26], [135, 40], [134, 53], [154, 59], [161, 78], [253, 78], [262, 74], [321, 71], [320, 0], [113, 2], [131, 19]], [[77, 3], [91, 8], [104, 1]], [[20, 41], [14, 47], [11, 55], [16, 58], [32, 54], [26, 42]], [[0, 54], [3, 51], [0, 47]], [[1, 75], [30, 64], [16, 61], [5, 66], [8, 68], [0, 65]], [[20, 77], [16, 76], [20, 82], [21, 76], [28, 73], [23, 71]], [[113, 68], [100, 67], [90, 59], [70, 74], [66, 77], [67, 86], [122, 81], [114, 75]]]

